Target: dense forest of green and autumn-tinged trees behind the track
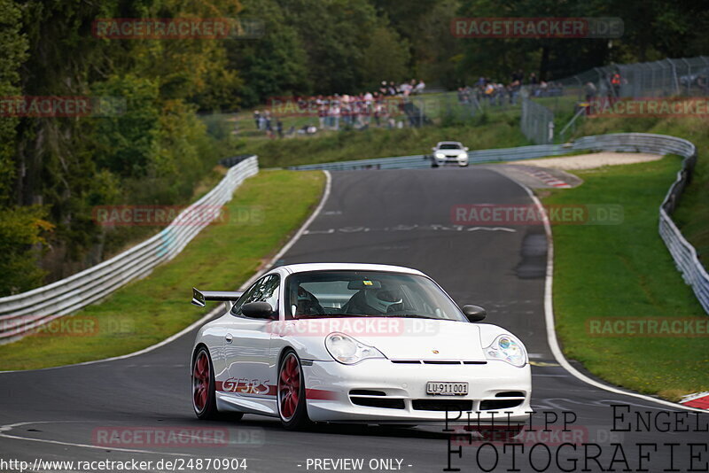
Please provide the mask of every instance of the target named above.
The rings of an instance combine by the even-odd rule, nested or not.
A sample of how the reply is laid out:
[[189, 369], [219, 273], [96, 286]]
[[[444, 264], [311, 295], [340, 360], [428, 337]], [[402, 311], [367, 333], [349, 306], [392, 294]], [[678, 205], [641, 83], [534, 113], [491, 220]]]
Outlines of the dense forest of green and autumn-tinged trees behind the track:
[[[229, 141], [203, 118], [269, 97], [358, 93], [380, 81], [456, 89], [519, 69], [560, 79], [595, 66], [709, 50], [690, 0], [0, 0], [0, 296], [87, 268], [144, 229], [107, 229], [97, 205], [180, 205]], [[472, 17], [614, 17], [614, 39], [471, 39]], [[249, 19], [258, 35], [97, 35], [99, 19]], [[13, 112], [18, 97], [116, 99], [101, 113]], [[103, 103], [103, 102], [102, 102]], [[109, 104], [110, 105], [110, 104]], [[211, 176], [211, 181], [210, 181]]]

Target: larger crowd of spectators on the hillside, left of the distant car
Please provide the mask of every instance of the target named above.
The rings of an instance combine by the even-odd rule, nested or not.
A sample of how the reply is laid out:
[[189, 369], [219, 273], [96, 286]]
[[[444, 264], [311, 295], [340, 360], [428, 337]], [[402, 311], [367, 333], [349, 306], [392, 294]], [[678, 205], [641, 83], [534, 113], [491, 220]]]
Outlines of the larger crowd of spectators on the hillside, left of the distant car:
[[[285, 136], [293, 134], [314, 134], [318, 129], [339, 130], [340, 128], [387, 127], [403, 128], [398, 120], [416, 120], [409, 113], [408, 97], [423, 93], [425, 82], [412, 79], [399, 85], [393, 81], [382, 81], [378, 90], [360, 94], [332, 94], [330, 96], [278, 97], [269, 100], [269, 110], [253, 112], [256, 128], [269, 136], [283, 137], [281, 117], [314, 117], [317, 127], [308, 123], [299, 129], [291, 127]], [[274, 119], [275, 117], [275, 119]], [[275, 120], [275, 128], [274, 128]], [[412, 123], [409, 123], [409, 125]]]

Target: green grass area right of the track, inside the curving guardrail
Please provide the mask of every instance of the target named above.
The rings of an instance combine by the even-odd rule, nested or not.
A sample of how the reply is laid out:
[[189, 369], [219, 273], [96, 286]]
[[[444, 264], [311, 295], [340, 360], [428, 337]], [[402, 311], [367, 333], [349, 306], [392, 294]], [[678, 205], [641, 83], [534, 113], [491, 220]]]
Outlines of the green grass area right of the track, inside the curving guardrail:
[[587, 321], [705, 317], [658, 236], [658, 205], [681, 159], [602, 167], [553, 190], [545, 205], [622, 205], [620, 225], [555, 225], [554, 309], [564, 352], [594, 375], [676, 400], [709, 390], [709, 336], [592, 337]]

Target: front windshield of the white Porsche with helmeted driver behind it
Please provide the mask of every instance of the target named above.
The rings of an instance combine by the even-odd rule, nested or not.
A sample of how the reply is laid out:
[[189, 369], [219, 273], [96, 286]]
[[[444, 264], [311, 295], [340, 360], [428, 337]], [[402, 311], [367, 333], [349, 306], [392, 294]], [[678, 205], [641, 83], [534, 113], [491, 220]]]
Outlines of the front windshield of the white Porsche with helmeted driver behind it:
[[286, 317], [420, 317], [465, 321], [456, 304], [421, 275], [313, 271], [286, 283]]

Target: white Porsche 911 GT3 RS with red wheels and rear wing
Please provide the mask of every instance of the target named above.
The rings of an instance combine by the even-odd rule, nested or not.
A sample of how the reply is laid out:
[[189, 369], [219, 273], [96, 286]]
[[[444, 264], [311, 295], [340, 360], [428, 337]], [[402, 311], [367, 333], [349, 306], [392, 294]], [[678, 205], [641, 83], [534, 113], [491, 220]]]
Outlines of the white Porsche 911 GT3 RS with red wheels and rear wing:
[[193, 290], [193, 304], [206, 300], [227, 311], [199, 330], [192, 351], [200, 419], [269, 415], [299, 429], [440, 423], [446, 411], [471, 411], [485, 433], [501, 419], [521, 426], [531, 410], [522, 342], [477, 323], [483, 308], [459, 308], [415, 269], [283, 266], [243, 294]]

